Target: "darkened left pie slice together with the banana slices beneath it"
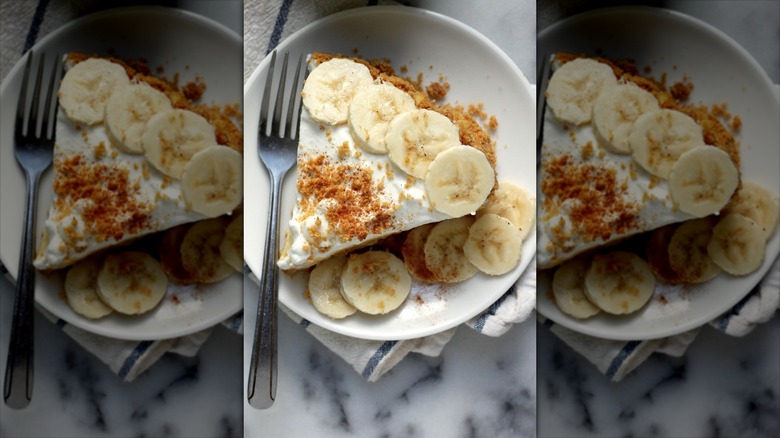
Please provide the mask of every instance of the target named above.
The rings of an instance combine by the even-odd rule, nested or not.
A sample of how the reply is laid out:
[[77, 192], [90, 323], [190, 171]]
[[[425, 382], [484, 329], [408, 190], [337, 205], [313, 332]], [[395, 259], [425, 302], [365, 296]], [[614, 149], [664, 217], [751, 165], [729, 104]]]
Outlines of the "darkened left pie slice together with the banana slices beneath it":
[[[237, 105], [196, 103], [204, 84], [180, 87], [142, 61], [71, 53], [64, 62], [54, 193], [34, 266], [72, 267], [65, 295], [87, 318], [147, 312], [170, 280], [240, 272]], [[155, 248], [139, 243], [165, 230]]]

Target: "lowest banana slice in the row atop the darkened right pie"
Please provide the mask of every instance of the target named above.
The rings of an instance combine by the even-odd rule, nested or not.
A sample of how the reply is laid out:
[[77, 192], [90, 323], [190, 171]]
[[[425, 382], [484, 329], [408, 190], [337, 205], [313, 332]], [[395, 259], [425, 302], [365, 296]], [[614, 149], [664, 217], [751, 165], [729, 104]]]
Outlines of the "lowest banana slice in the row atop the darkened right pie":
[[729, 155], [714, 146], [697, 146], [680, 155], [669, 174], [669, 193], [681, 211], [696, 217], [719, 212], [739, 185]]

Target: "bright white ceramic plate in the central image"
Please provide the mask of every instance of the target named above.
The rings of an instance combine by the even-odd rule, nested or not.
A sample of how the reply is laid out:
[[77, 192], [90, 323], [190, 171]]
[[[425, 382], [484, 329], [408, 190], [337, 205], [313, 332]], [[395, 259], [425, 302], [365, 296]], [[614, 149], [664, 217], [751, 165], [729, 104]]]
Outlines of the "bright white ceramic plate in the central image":
[[[291, 59], [313, 51], [353, 54], [355, 49], [366, 58], [388, 58], [396, 69], [405, 65], [409, 76], [421, 72], [426, 84], [444, 75], [451, 84], [449, 102], [484, 103], [485, 111], [499, 121], [494, 136], [499, 178], [535, 193], [534, 93], [523, 74], [492, 42], [462, 23], [435, 13], [407, 7], [368, 7], [312, 23], [278, 47], [280, 52], [289, 51]], [[268, 62], [266, 58], [260, 63], [244, 88], [244, 256], [256, 273], [262, 267], [270, 186], [255, 152]], [[295, 172], [290, 172], [283, 187], [283, 229], [293, 208], [295, 178]], [[384, 316], [353, 315], [340, 321], [322, 316], [304, 297], [305, 275], [282, 274], [279, 299], [307, 320], [348, 336], [378, 340], [426, 336], [466, 321], [501, 297], [533, 258], [534, 236], [531, 234], [524, 245], [520, 265], [511, 273], [493, 278], [480, 274], [447, 287], [414, 287], [400, 309]], [[424, 304], [416, 302], [416, 296]]]

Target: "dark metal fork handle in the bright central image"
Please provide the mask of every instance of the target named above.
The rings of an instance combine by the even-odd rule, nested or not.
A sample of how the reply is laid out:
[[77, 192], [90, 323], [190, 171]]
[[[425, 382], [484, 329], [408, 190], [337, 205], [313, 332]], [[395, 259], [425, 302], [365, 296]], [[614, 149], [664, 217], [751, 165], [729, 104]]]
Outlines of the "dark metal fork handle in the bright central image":
[[276, 266], [276, 256], [279, 253], [279, 204], [283, 177], [284, 174], [277, 174], [271, 178], [270, 217], [266, 229], [255, 339], [247, 384], [249, 404], [256, 409], [267, 409], [276, 399], [279, 298], [279, 268]]

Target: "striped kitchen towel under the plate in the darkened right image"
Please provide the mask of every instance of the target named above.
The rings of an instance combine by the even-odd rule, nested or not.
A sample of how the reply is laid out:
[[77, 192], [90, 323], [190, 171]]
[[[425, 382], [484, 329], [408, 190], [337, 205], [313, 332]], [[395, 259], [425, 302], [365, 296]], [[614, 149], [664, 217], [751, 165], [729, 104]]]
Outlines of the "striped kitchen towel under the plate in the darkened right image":
[[[710, 322], [710, 326], [730, 336], [745, 336], [756, 325], [768, 321], [780, 309], [780, 258], [767, 275], [739, 303]], [[593, 363], [611, 381], [623, 379], [653, 353], [682, 356], [696, 339], [700, 328], [662, 339], [612, 341], [594, 338], [567, 329], [539, 315], [539, 322], [574, 351]]]

